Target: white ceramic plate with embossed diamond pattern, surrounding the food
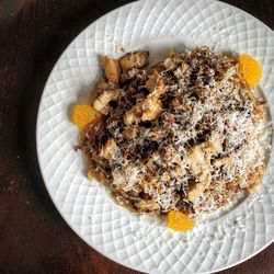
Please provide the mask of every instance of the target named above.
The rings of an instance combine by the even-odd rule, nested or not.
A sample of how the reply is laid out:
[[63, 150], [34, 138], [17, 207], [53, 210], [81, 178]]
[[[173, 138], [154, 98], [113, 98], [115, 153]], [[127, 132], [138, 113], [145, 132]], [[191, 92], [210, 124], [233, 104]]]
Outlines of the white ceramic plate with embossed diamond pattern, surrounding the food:
[[[149, 273], [206, 273], [230, 267], [274, 239], [274, 157], [255, 195], [189, 233], [174, 232], [113, 203], [84, 175], [73, 150], [78, 128], [69, 107], [89, 102], [100, 76], [99, 56], [148, 48], [208, 45], [248, 53], [263, 66], [261, 88], [274, 113], [274, 35], [231, 5], [210, 0], [145, 0], [124, 5], [88, 26], [65, 50], [46, 83], [37, 118], [37, 153], [46, 187], [69, 226], [92, 248], [128, 267]], [[155, 55], [157, 56], [157, 55]], [[152, 56], [153, 57], [153, 56]]]

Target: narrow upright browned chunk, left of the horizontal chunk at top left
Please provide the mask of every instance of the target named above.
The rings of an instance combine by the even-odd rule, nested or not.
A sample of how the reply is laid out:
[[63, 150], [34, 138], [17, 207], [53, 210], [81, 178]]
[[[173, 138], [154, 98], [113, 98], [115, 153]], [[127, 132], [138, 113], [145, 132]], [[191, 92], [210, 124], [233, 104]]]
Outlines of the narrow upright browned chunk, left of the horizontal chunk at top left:
[[103, 65], [105, 78], [113, 83], [118, 83], [119, 75], [121, 75], [118, 61], [113, 59], [110, 56], [104, 56], [102, 58], [102, 65]]

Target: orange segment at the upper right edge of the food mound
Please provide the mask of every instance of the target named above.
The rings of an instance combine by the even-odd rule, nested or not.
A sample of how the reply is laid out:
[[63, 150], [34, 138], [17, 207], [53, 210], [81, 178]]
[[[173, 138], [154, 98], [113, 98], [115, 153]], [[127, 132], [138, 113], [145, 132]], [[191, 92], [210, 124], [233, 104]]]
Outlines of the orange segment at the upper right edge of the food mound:
[[240, 69], [250, 88], [254, 88], [262, 78], [261, 65], [251, 56], [242, 54], [239, 57]]

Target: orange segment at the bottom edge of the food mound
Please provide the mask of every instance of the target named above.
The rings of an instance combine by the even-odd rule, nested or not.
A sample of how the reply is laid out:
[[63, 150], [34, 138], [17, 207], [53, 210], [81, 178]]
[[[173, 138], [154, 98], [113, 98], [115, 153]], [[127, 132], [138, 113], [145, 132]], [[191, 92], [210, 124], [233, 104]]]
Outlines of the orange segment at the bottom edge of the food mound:
[[185, 214], [170, 210], [168, 214], [168, 227], [178, 231], [185, 231], [192, 229], [194, 222]]

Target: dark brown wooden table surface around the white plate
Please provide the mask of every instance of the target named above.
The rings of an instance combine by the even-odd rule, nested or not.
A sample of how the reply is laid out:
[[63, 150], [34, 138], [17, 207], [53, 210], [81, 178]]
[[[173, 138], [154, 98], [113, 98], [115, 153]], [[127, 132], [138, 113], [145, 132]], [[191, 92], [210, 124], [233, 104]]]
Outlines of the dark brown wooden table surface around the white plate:
[[[67, 45], [126, 0], [0, 1], [0, 273], [137, 273], [88, 247], [62, 220], [35, 151], [36, 113]], [[274, 28], [273, 0], [226, 0]], [[222, 273], [274, 273], [274, 244]]]

